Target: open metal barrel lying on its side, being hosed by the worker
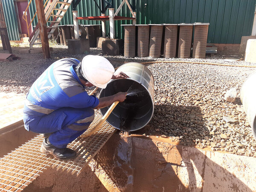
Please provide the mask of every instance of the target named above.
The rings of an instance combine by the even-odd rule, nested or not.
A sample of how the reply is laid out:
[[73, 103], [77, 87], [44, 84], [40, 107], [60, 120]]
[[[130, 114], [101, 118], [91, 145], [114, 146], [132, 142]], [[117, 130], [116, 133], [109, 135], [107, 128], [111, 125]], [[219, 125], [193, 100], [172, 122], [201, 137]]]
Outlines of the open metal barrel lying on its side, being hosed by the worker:
[[[151, 120], [154, 113], [154, 78], [150, 70], [140, 63], [126, 63], [116, 72], [124, 72], [130, 78], [113, 79], [99, 93], [99, 98], [111, 96], [118, 92], [127, 92], [131, 88], [136, 93], [129, 92], [124, 102], [120, 102], [108, 116], [107, 122], [113, 127], [136, 131], [143, 128]], [[108, 107], [100, 109], [102, 116]]]

